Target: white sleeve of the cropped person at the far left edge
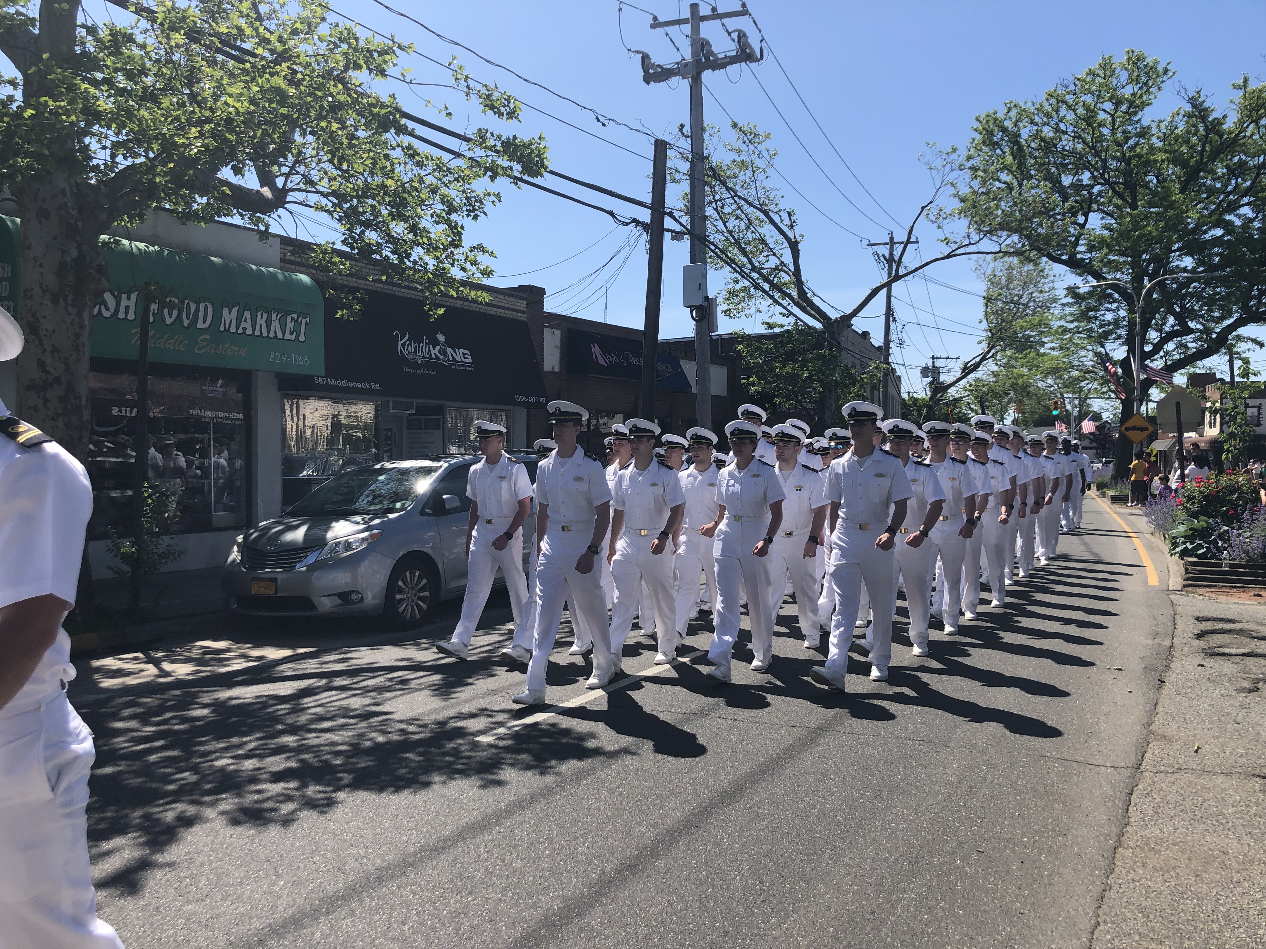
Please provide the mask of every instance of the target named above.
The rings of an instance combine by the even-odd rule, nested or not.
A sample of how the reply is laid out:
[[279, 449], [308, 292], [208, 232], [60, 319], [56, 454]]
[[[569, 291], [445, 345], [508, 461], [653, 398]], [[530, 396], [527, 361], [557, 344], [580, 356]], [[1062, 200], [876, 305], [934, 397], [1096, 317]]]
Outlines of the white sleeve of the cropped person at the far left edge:
[[75, 602], [92, 486], [60, 445], [20, 449], [0, 467], [0, 607], [52, 593]]

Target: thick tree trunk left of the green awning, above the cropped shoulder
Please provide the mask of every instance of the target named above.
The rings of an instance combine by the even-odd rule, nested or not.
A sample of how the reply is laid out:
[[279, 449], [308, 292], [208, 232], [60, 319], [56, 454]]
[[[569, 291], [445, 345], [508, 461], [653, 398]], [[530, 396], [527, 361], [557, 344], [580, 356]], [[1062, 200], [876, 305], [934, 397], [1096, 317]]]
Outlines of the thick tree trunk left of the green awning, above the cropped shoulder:
[[85, 214], [82, 185], [66, 175], [14, 190], [22, 216], [18, 319], [27, 337], [15, 414], [82, 459], [91, 425], [89, 321], [108, 286], [97, 214]]

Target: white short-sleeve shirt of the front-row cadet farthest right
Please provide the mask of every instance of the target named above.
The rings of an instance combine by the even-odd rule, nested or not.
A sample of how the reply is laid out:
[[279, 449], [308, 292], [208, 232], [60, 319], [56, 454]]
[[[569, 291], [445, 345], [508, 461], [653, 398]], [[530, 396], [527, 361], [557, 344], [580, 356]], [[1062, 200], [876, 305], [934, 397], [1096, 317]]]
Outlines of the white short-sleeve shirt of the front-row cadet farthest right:
[[[914, 496], [901, 462], [876, 448], [865, 458], [851, 450], [827, 469], [827, 500], [839, 505], [832, 559], [856, 563], [887, 528], [893, 504]], [[865, 524], [866, 528], [860, 525]]]

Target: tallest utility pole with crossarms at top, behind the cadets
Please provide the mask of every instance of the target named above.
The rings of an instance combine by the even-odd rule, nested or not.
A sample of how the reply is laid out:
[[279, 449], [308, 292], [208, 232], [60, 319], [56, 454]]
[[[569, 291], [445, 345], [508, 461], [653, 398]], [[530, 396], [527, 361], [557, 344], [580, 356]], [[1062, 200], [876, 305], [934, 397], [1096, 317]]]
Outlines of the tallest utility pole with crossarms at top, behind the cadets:
[[[724, 20], [730, 16], [751, 16], [744, 6], [729, 13], [699, 14], [699, 4], [690, 4], [690, 16], [677, 20], [651, 18], [651, 29], [671, 27], [690, 27], [690, 58], [672, 66], [658, 66], [649, 53], [641, 49], [642, 81], [666, 82], [671, 78], [685, 78], [690, 82], [690, 263], [708, 262], [708, 219], [704, 208], [704, 73], [711, 70], [724, 70], [744, 62], [760, 62], [765, 51], [757, 53], [747, 39], [747, 33], [734, 30], [736, 49], [728, 56], [718, 56], [701, 33], [700, 25], [708, 20]], [[690, 319], [695, 324], [695, 424], [711, 428], [711, 305], [690, 307]]]

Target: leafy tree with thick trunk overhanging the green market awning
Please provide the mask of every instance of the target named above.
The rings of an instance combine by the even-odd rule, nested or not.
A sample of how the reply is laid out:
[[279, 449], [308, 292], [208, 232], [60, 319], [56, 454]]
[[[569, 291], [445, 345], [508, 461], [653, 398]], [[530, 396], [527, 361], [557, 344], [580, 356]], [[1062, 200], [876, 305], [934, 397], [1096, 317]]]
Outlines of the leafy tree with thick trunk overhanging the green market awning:
[[[139, 19], [80, 22], [77, 0], [0, 0], [0, 52], [16, 76], [0, 105], [0, 168], [22, 230], [18, 411], [72, 452], [87, 443], [100, 239], [151, 208], [267, 230], [292, 209], [324, 215], [381, 278], [452, 297], [490, 271], [467, 221], [485, 186], [546, 167], [541, 138], [477, 129], [458, 157], [424, 148], [381, 84], [406, 51], [361, 35], [320, 0], [153, 0]], [[485, 113], [518, 102], [457, 68]], [[447, 114], [444, 106], [437, 106]], [[327, 244], [313, 263], [348, 261]]]

